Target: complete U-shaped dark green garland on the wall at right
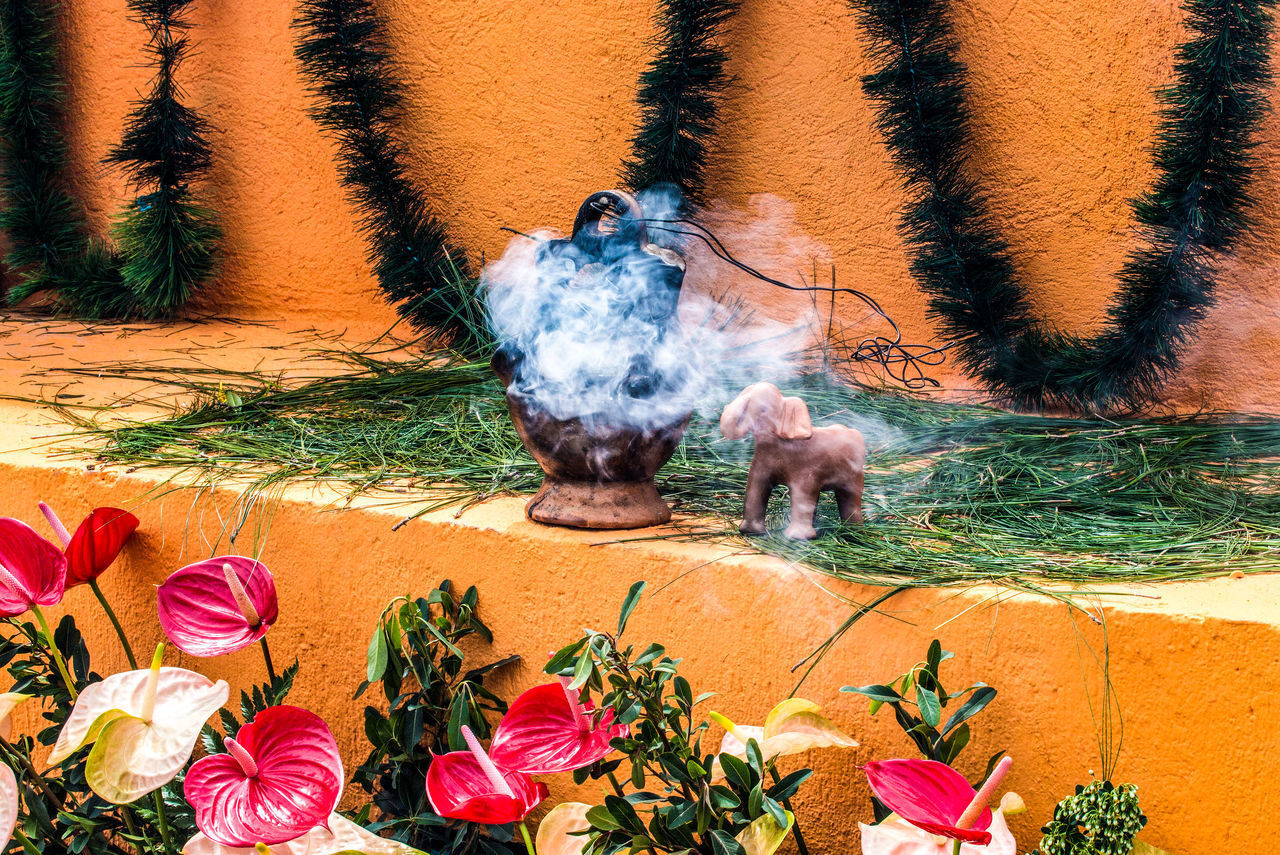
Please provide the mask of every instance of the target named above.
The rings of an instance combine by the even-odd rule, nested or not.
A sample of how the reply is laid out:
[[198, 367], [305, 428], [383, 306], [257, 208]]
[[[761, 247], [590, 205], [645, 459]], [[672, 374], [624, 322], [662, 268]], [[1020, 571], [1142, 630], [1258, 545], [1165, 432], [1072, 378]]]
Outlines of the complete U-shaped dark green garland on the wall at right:
[[913, 273], [960, 365], [997, 396], [1023, 407], [1121, 410], [1158, 394], [1212, 303], [1212, 253], [1248, 225], [1274, 1], [1184, 0], [1190, 38], [1161, 93], [1158, 178], [1134, 202], [1146, 242], [1120, 273], [1106, 329], [1082, 339], [1036, 320], [968, 177], [966, 69], [947, 0], [850, 0], [881, 67], [863, 86], [911, 195], [902, 230]]

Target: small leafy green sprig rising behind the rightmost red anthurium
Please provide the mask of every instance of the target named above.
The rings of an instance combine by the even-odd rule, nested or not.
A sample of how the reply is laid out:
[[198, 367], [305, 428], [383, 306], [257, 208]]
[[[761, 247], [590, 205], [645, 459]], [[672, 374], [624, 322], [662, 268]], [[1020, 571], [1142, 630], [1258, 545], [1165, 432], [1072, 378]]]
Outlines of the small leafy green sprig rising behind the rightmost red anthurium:
[[[942, 687], [940, 669], [942, 663], [954, 655], [950, 650], [943, 650], [942, 644], [934, 639], [929, 644], [924, 662], [913, 666], [902, 676], [887, 683], [845, 686], [840, 691], [869, 698], [872, 715], [888, 704], [902, 732], [915, 744], [924, 759], [954, 765], [960, 751], [969, 745], [969, 719], [996, 699], [996, 690], [983, 682], [975, 682], [954, 692]], [[947, 712], [947, 707], [956, 701], [960, 701], [959, 705], [943, 722], [942, 715]], [[987, 779], [1004, 754], [997, 751], [991, 758], [978, 785]]]

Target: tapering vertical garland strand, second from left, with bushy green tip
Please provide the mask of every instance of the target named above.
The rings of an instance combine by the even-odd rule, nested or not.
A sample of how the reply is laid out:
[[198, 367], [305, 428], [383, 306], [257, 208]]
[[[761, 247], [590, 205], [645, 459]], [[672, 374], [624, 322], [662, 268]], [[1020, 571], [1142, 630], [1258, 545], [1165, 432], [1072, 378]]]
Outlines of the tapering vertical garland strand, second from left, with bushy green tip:
[[221, 237], [216, 216], [189, 184], [209, 173], [209, 123], [182, 104], [174, 79], [187, 52], [189, 24], [182, 14], [191, 3], [129, 0], [129, 9], [151, 32], [147, 50], [156, 74], [108, 163], [119, 164], [137, 187], [150, 189], [115, 228], [133, 314], [146, 317], [173, 315], [207, 284]]

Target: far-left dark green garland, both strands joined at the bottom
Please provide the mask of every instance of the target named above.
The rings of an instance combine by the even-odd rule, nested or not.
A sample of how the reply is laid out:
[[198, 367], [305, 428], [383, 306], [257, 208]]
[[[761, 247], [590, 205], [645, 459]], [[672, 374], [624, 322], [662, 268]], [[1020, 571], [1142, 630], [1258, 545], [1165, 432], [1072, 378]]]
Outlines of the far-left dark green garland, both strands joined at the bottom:
[[137, 200], [116, 228], [120, 253], [88, 237], [84, 212], [67, 188], [64, 82], [58, 58], [56, 0], [0, 0], [0, 137], [4, 173], [0, 229], [19, 282], [12, 303], [50, 292], [86, 317], [172, 315], [212, 273], [219, 232], [188, 182], [209, 166], [204, 122], [178, 102], [173, 72], [186, 51], [177, 14], [191, 0], [131, 0], [152, 32], [154, 88], [131, 118], [110, 160], [155, 192]]

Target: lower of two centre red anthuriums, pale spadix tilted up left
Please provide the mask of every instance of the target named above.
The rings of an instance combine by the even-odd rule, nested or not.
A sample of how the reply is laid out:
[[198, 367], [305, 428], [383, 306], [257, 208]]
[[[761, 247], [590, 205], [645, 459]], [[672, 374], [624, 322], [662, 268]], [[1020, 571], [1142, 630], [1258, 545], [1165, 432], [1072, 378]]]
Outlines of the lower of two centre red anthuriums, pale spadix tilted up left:
[[431, 760], [426, 797], [442, 817], [485, 826], [520, 822], [547, 797], [547, 785], [524, 772], [499, 769], [480, 747], [471, 728], [462, 726], [467, 751], [451, 751]]

